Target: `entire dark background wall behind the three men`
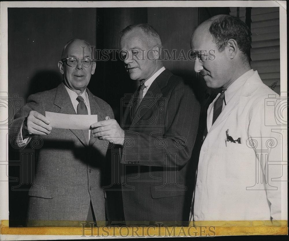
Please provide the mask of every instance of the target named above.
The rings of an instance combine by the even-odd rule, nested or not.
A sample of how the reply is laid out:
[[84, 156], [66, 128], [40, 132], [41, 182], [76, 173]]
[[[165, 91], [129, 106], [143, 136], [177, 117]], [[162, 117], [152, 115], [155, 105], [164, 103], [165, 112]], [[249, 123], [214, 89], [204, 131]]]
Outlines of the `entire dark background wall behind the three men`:
[[[118, 49], [119, 32], [124, 27], [149, 23], [159, 32], [163, 49], [177, 49], [178, 56], [181, 49], [185, 53], [190, 49], [190, 36], [197, 24], [220, 13], [228, 14], [228, 8], [9, 8], [8, 93], [18, 94], [25, 104], [30, 94], [55, 88], [62, 81], [57, 63], [71, 38], [84, 38], [96, 49]], [[196, 78], [192, 61], [168, 60], [164, 65], [190, 82], [200, 102], [205, 99], [204, 83]], [[121, 98], [137, 87], [138, 82], [128, 78], [119, 59], [97, 61], [88, 85], [92, 93], [112, 106], [118, 121], [123, 111]], [[20, 155], [9, 148], [10, 163], [16, 163], [9, 166], [10, 226], [24, 225], [27, 190], [33, 180], [33, 166], [27, 171], [25, 162], [19, 161]], [[196, 162], [190, 174], [194, 165]]]

